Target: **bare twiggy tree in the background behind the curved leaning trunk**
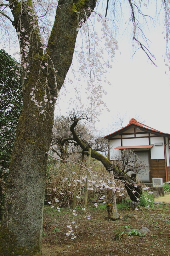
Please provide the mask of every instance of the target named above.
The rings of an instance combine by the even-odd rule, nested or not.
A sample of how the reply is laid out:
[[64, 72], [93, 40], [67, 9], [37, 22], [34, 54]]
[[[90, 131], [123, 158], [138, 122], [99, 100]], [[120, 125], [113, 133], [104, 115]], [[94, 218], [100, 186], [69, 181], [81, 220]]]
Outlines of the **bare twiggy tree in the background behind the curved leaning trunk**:
[[[69, 112], [68, 116], [56, 117], [51, 135], [50, 150], [55, 152], [61, 159], [68, 159], [69, 155], [77, 153], [81, 148], [79, 144], [74, 140], [73, 134], [70, 131], [72, 121], [70, 120], [70, 114], [79, 113], [78, 111]], [[89, 119], [80, 117], [80, 119]], [[88, 123], [78, 123], [75, 127], [75, 131], [78, 137], [94, 148], [96, 151], [107, 152], [108, 151], [108, 140], [101, 136], [95, 135], [94, 130], [88, 128]]]

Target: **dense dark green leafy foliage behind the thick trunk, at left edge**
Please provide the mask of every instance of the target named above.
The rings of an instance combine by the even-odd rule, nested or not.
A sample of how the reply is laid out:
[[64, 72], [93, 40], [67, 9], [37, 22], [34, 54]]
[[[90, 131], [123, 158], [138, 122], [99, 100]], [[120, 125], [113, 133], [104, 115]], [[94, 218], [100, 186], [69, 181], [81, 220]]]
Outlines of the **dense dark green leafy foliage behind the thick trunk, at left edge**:
[[[0, 50], [0, 177], [8, 174], [19, 114], [22, 86], [18, 78], [20, 64]], [[14, 80], [12, 80], [14, 78]]]

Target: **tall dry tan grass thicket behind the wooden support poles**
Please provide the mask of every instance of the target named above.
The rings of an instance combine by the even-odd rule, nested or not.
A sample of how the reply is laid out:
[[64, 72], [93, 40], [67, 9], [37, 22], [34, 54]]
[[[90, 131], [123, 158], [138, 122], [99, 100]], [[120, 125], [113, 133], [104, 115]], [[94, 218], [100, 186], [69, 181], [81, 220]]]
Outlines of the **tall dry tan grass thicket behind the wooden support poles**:
[[[101, 183], [105, 182], [109, 185], [109, 173], [106, 171], [104, 166], [95, 159], [91, 161], [91, 167], [89, 188], [92, 188], [93, 190], [88, 191], [88, 198], [93, 198], [97, 201], [99, 197], [105, 195], [106, 200], [104, 201], [108, 202], [108, 199], [112, 197], [112, 192], [110, 189], [102, 188]], [[71, 204], [73, 201], [75, 186], [78, 183], [78, 170], [79, 166], [73, 163], [60, 164], [58, 162], [55, 165], [50, 164], [48, 166], [46, 183], [46, 194], [48, 195], [45, 199], [54, 203], [55, 198], [57, 198], [59, 206], [68, 206]], [[98, 174], [94, 174], [93, 171]], [[86, 174], [87, 169], [82, 168], [78, 192], [78, 196], [80, 197], [78, 200], [79, 203], [83, 202]], [[128, 198], [124, 185], [120, 182], [115, 183], [115, 187], [119, 187], [117, 190], [118, 192], [116, 193], [117, 202], [119, 203], [127, 200]], [[119, 194], [122, 194], [123, 192], [124, 195], [119, 196]]]

